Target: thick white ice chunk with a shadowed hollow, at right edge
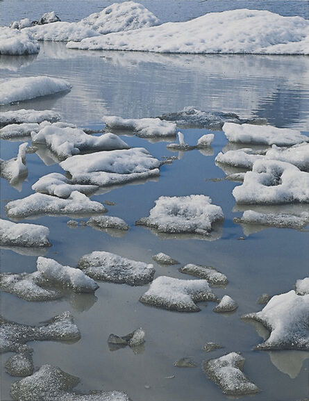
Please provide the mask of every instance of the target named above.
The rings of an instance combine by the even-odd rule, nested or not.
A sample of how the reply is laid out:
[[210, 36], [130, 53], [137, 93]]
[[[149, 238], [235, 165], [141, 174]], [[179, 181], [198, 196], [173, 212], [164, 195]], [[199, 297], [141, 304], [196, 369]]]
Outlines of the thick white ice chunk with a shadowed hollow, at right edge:
[[309, 202], [309, 173], [283, 161], [258, 160], [233, 189], [238, 204]]

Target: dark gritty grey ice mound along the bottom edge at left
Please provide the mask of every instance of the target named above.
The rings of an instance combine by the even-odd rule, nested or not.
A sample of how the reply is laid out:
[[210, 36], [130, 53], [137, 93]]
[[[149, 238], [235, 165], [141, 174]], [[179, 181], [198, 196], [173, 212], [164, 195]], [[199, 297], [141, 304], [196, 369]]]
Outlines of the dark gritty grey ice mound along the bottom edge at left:
[[75, 393], [72, 389], [78, 382], [78, 377], [60, 368], [43, 365], [33, 375], [12, 384], [10, 395], [16, 401], [129, 401], [128, 396], [120, 391]]

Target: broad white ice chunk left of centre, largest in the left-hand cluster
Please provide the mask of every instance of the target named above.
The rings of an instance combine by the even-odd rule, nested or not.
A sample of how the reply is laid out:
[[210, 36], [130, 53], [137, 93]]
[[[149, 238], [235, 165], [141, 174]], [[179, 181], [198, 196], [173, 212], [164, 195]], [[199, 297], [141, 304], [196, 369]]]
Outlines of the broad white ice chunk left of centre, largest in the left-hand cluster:
[[72, 175], [74, 182], [97, 186], [119, 185], [160, 174], [160, 161], [138, 147], [72, 156], [60, 166]]

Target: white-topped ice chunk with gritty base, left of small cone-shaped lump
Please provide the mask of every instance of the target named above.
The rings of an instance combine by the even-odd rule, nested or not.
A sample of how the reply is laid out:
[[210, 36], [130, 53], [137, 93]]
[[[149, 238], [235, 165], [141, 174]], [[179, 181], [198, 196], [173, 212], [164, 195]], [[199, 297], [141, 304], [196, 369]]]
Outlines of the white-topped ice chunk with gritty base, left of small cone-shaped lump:
[[140, 302], [179, 312], [200, 311], [196, 302], [215, 301], [207, 280], [180, 280], [160, 276], [153, 280]]

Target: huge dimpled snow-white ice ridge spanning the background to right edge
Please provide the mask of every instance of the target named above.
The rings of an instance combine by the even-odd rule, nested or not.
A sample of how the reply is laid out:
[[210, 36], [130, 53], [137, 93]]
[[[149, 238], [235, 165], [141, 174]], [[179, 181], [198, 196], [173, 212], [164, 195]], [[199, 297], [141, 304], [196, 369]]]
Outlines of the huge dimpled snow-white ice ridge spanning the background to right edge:
[[208, 13], [187, 22], [168, 22], [137, 31], [110, 33], [72, 49], [133, 50], [194, 54], [308, 54], [309, 22], [265, 10]]

